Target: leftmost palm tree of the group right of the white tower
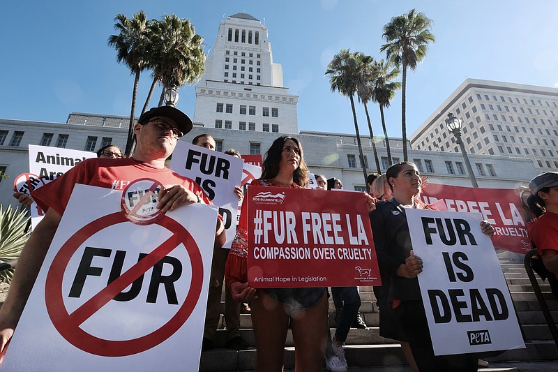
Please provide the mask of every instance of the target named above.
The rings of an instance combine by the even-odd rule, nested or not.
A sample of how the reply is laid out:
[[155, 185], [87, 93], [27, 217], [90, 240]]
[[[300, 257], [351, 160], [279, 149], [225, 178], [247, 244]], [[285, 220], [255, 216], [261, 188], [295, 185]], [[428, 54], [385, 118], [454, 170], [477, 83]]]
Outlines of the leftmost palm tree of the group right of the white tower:
[[359, 154], [361, 157], [361, 167], [364, 174], [364, 184], [368, 173], [364, 162], [364, 154], [362, 152], [361, 134], [359, 133], [359, 124], [356, 121], [356, 111], [354, 110], [354, 94], [356, 87], [361, 79], [362, 62], [364, 60], [361, 52], [351, 53], [348, 49], [342, 49], [327, 66], [325, 75], [329, 75], [329, 84], [331, 91], [338, 91], [342, 96], [349, 97], [351, 108], [353, 111], [354, 130], [356, 131], [356, 142], [359, 146]]

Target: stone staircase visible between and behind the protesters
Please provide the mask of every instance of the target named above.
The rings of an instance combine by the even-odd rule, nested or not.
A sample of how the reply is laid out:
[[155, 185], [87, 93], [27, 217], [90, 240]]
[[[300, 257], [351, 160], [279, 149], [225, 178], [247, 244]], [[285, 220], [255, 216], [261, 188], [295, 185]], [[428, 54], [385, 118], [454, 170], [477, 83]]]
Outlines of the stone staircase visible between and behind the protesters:
[[[558, 347], [552, 340], [543, 313], [536, 302], [531, 283], [523, 267], [523, 255], [508, 252], [500, 252], [498, 255], [525, 334], [526, 348], [506, 350], [499, 355], [483, 357], [490, 366], [479, 371], [558, 371]], [[553, 299], [550, 286], [540, 280], [539, 283], [545, 297], [550, 300], [548, 307], [552, 317], [558, 322], [558, 302]], [[361, 287], [360, 292], [362, 302], [360, 311], [368, 328], [351, 329], [349, 332], [345, 346], [349, 371], [411, 371], [399, 343], [379, 336], [379, 313], [372, 287]], [[335, 307], [330, 297], [329, 322], [332, 334], [335, 332], [334, 314]], [[216, 336], [216, 349], [202, 352], [199, 371], [253, 371], [255, 350], [237, 352], [224, 348], [226, 341], [224, 327], [222, 318], [221, 329]], [[249, 314], [241, 314], [241, 336], [248, 343], [252, 345], [255, 343]], [[289, 331], [285, 344], [285, 370], [292, 369], [294, 369], [294, 347], [292, 334]]]

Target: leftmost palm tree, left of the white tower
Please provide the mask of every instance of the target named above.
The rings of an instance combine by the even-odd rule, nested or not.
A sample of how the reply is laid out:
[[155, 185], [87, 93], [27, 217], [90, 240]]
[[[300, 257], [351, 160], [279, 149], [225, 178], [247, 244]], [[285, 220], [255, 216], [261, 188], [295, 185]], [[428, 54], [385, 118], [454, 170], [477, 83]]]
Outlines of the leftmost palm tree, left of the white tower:
[[130, 124], [128, 126], [128, 139], [126, 140], [126, 155], [130, 156], [133, 147], [133, 125], [135, 117], [135, 103], [137, 100], [137, 87], [140, 84], [140, 73], [148, 66], [147, 55], [149, 54], [149, 25], [145, 13], [140, 10], [132, 18], [119, 14], [114, 17], [114, 29], [118, 34], [111, 35], [108, 44], [116, 50], [116, 59], [119, 63], [126, 64], [134, 78], [134, 89], [132, 94], [132, 110], [130, 112]]

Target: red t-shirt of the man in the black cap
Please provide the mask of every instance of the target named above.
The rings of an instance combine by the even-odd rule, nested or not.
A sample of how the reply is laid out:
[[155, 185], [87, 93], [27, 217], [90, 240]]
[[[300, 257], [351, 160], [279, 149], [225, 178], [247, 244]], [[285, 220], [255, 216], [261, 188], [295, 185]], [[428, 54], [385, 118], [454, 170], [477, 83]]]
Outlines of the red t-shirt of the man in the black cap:
[[140, 178], [151, 178], [163, 186], [182, 185], [192, 191], [206, 204], [213, 204], [195, 181], [183, 177], [169, 168], [153, 168], [146, 163], [135, 161], [134, 158], [105, 159], [91, 158], [75, 165], [61, 177], [54, 179], [45, 186], [33, 191], [33, 199], [38, 206], [47, 211], [52, 207], [60, 215], [64, 213], [75, 184], [84, 184], [123, 190]]

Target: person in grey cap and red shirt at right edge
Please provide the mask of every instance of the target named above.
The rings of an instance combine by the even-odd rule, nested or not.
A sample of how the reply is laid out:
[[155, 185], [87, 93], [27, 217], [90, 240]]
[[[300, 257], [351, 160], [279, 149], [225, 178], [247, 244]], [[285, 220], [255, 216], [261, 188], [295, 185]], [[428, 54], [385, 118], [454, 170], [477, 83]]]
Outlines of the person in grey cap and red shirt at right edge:
[[529, 188], [527, 203], [537, 217], [531, 226], [531, 240], [546, 269], [558, 278], [558, 173], [539, 174]]

